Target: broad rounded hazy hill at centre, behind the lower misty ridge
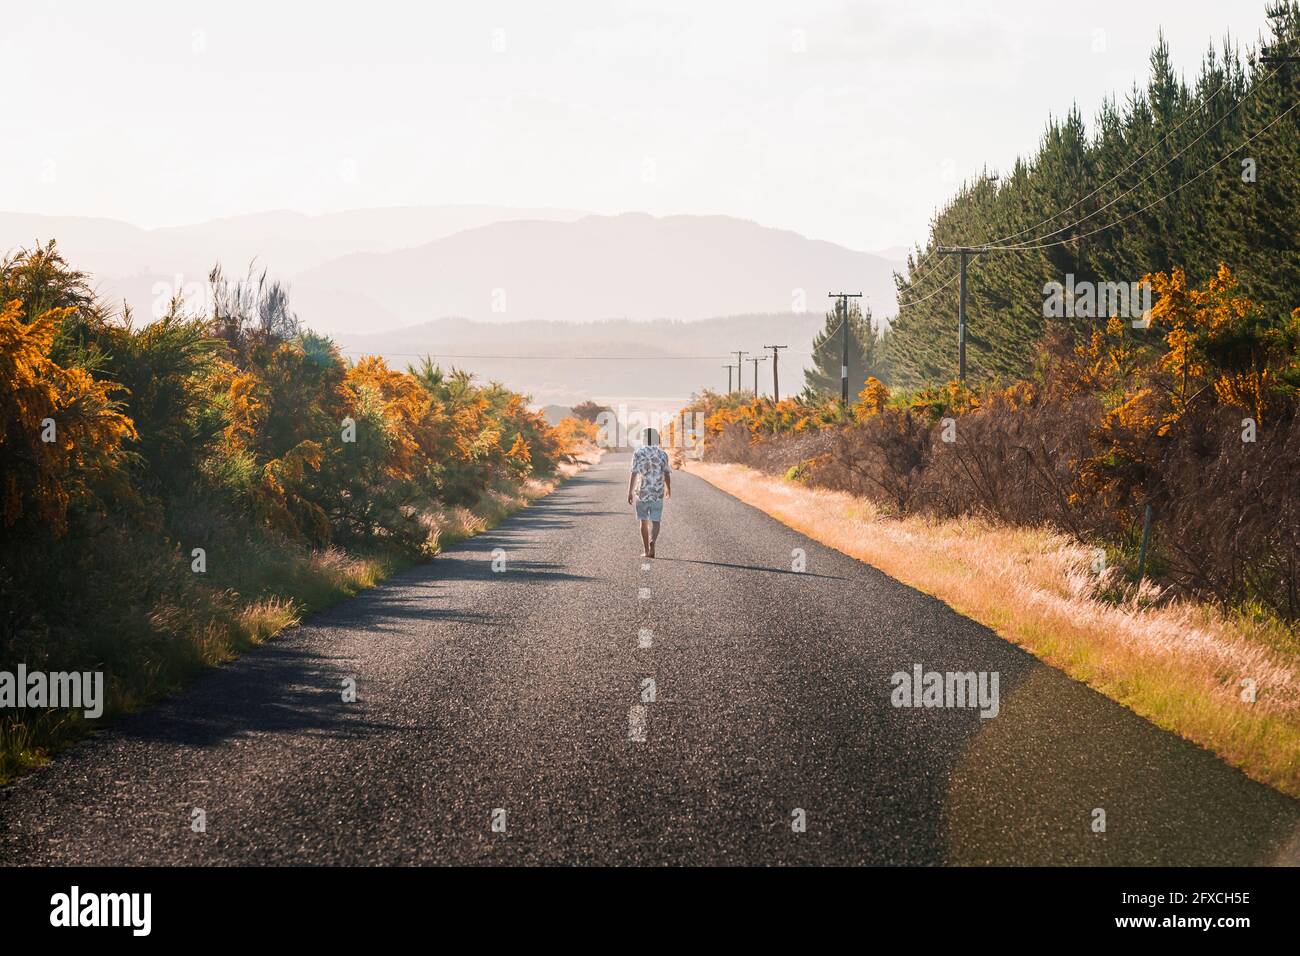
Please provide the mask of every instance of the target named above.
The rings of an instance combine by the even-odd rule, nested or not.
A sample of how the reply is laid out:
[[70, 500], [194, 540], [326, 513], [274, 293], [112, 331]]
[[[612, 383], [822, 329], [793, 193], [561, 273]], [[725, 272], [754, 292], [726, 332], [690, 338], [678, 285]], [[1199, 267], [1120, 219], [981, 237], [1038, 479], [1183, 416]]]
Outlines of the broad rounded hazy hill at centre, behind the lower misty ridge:
[[365, 297], [402, 323], [499, 323], [789, 312], [800, 297], [822, 312], [827, 293], [852, 290], [888, 317], [896, 267], [746, 220], [625, 213], [494, 222], [398, 252], [344, 256], [299, 274], [294, 287], [328, 329], [355, 324], [330, 307], [333, 294]]

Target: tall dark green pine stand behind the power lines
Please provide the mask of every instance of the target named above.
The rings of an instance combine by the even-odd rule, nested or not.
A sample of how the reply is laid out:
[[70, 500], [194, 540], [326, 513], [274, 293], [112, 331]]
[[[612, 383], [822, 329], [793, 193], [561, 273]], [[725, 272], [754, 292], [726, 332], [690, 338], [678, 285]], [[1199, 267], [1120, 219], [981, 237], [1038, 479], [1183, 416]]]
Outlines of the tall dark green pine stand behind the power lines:
[[1044, 285], [1067, 276], [1135, 282], [1182, 267], [1201, 285], [1226, 261], [1260, 308], [1295, 308], [1300, 62], [1260, 53], [1300, 53], [1300, 4], [1274, 0], [1266, 12], [1262, 49], [1212, 46], [1187, 82], [1161, 38], [1147, 83], [1104, 103], [1091, 127], [1074, 108], [1049, 117], [1031, 156], [965, 183], [897, 280], [889, 377], [871, 375], [918, 389], [954, 373], [957, 263], [941, 247], [1008, 247], [968, 261], [967, 363], [976, 381], [1032, 373], [1028, 345], [1053, 328], [1092, 332], [1096, 320], [1084, 315], [1044, 317]]

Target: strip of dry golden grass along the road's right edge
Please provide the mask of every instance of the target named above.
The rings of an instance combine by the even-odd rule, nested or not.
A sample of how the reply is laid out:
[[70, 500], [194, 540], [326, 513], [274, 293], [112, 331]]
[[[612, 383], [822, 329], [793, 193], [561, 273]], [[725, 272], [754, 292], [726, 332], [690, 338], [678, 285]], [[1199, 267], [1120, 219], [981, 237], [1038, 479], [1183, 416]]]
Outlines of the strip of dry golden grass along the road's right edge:
[[[1165, 730], [1300, 796], [1300, 643], [1277, 623], [1188, 601], [1115, 604], [1096, 549], [976, 518], [889, 518], [867, 499], [737, 464], [692, 462], [748, 505], [923, 591]], [[1254, 702], [1243, 700], [1253, 679]]]

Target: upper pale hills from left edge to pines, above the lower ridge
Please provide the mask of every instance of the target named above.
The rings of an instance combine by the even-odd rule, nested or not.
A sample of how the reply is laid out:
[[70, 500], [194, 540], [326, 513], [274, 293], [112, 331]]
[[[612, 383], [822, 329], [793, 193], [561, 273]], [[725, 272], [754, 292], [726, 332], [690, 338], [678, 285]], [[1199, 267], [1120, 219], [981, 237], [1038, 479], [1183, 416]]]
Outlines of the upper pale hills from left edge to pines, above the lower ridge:
[[[445, 316], [514, 320], [703, 319], [822, 313], [864, 291], [893, 315], [900, 263], [725, 216], [589, 216], [489, 206], [265, 212], [165, 229], [0, 212], [0, 251], [55, 238], [109, 300], [147, 320], [173, 291], [196, 308], [213, 263], [289, 282], [312, 328], [334, 336]], [[504, 310], [504, 311], [494, 311]], [[762, 343], [760, 343], [762, 345]]]

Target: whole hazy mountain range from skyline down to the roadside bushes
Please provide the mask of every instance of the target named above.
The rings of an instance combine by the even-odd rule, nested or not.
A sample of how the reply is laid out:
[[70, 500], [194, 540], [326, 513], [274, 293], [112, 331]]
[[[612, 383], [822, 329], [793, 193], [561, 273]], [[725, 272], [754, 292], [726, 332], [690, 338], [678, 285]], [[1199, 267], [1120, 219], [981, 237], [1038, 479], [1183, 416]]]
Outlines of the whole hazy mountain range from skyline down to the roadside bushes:
[[[887, 319], [901, 268], [900, 250], [859, 252], [725, 216], [454, 206], [140, 229], [0, 213], [0, 250], [49, 238], [138, 320], [176, 291], [203, 310], [214, 261], [242, 274], [256, 259], [289, 284], [303, 321], [351, 354], [398, 364], [433, 354], [559, 403], [676, 401], [724, 386], [729, 350], [772, 343], [792, 346], [788, 394], [802, 386], [827, 293], [862, 291]], [[770, 389], [770, 364], [759, 377]]]

